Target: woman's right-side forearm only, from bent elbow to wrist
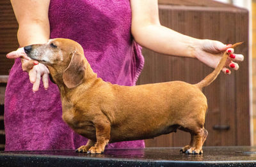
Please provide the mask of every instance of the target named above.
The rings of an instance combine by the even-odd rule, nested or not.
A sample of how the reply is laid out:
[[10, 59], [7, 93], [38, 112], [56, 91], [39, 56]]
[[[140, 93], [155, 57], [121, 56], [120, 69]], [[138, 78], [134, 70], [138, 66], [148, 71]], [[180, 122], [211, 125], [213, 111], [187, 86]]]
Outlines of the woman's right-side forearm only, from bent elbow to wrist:
[[200, 42], [160, 24], [137, 27], [133, 34], [143, 47], [167, 55], [195, 57], [194, 48]]

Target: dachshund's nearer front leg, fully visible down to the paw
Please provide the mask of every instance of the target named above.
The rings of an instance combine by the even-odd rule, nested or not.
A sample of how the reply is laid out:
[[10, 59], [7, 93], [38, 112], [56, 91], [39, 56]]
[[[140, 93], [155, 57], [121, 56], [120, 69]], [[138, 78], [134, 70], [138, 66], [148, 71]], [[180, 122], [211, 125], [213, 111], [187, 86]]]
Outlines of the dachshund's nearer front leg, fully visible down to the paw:
[[110, 139], [110, 122], [97, 122], [95, 123], [95, 129], [97, 142], [94, 147], [91, 147], [88, 150], [87, 154], [102, 154], [105, 150], [106, 145], [108, 145]]

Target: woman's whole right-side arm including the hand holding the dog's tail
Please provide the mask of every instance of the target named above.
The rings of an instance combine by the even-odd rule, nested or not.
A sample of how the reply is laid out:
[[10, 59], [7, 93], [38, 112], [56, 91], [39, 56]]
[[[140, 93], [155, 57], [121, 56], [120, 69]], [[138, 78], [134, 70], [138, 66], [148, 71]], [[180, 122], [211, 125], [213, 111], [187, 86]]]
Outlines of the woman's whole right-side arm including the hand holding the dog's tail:
[[[141, 46], [155, 52], [194, 57], [215, 68], [221, 59], [221, 52], [230, 47], [220, 41], [198, 40], [164, 27], [159, 22], [157, 0], [131, 0], [131, 9], [132, 36]], [[231, 57], [233, 58], [228, 59], [226, 66], [238, 69], [238, 64], [232, 61], [243, 61], [243, 55]], [[227, 73], [227, 68], [223, 71]]]

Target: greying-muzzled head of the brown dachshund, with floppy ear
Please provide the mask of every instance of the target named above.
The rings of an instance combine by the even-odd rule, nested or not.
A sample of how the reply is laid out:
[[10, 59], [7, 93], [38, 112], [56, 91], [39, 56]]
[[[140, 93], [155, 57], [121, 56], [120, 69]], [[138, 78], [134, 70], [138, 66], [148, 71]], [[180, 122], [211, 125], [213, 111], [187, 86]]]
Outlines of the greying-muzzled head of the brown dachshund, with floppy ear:
[[31, 59], [45, 64], [54, 82], [77, 87], [86, 78], [83, 48], [73, 40], [55, 38], [44, 44], [29, 45], [24, 51]]

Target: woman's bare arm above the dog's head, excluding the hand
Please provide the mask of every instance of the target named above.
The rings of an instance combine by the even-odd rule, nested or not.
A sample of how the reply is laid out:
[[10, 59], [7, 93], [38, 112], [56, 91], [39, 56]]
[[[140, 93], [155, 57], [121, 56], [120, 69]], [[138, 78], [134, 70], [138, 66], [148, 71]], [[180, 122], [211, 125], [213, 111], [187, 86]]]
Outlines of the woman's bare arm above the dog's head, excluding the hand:
[[48, 10], [50, 0], [11, 0], [13, 11], [19, 23], [18, 41], [20, 47], [49, 40], [50, 25]]

